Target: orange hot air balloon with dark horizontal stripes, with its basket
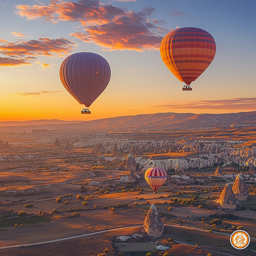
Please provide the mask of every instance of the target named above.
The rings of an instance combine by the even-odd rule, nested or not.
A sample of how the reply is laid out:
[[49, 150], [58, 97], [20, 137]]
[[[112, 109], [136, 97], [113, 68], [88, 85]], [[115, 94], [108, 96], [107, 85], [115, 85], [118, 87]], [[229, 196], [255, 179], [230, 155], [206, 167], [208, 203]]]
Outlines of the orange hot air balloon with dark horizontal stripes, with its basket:
[[160, 45], [162, 61], [192, 90], [190, 83], [209, 66], [216, 52], [216, 44], [207, 31], [196, 27], [181, 27], [167, 33]]

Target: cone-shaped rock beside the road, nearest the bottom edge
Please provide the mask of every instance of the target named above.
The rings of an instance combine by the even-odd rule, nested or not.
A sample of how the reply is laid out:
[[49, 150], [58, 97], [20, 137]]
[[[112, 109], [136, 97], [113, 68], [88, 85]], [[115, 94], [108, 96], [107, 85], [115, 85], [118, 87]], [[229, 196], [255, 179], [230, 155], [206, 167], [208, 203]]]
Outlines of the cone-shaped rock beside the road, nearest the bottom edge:
[[163, 234], [163, 222], [153, 203], [147, 211], [143, 226], [150, 238], [161, 237]]

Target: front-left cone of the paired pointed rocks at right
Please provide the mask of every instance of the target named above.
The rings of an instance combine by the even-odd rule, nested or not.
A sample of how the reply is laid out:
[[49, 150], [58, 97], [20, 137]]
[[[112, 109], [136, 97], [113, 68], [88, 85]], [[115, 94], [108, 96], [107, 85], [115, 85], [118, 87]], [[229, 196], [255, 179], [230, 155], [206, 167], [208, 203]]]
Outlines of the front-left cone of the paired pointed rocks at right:
[[223, 209], [231, 210], [236, 208], [234, 192], [228, 183], [226, 183], [224, 186], [219, 196], [218, 202]]

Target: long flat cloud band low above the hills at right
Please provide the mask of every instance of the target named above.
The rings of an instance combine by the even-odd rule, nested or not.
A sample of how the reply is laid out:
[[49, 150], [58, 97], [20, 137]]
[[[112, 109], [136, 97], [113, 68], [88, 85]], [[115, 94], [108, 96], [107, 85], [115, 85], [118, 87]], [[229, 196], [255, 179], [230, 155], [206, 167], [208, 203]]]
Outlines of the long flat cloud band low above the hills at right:
[[162, 109], [255, 109], [256, 97], [196, 101], [172, 101], [171, 103], [167, 102], [166, 104], [154, 105], [153, 107]]

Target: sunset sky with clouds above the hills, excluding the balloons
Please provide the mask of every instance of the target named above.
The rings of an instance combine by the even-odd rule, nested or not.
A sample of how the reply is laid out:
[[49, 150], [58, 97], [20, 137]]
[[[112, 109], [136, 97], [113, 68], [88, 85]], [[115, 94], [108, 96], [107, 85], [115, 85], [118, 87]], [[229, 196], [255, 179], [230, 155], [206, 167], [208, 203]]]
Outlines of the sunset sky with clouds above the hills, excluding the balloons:
[[[255, 9], [255, 0], [0, 0], [0, 121], [254, 111]], [[187, 26], [216, 42], [192, 91], [182, 91], [159, 52], [166, 33]], [[83, 115], [59, 79], [61, 62], [80, 51], [111, 68]]]

